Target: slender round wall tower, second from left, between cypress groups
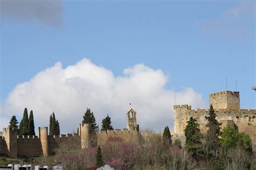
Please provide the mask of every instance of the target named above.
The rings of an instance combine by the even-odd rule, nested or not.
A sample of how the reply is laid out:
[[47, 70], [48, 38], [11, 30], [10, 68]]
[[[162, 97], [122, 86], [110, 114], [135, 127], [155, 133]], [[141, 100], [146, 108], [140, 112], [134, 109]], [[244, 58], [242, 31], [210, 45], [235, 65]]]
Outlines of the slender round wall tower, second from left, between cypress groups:
[[48, 148], [48, 128], [47, 127], [43, 127], [43, 129], [40, 127], [38, 128], [38, 138], [40, 138], [41, 140], [44, 156], [48, 157], [49, 148]]

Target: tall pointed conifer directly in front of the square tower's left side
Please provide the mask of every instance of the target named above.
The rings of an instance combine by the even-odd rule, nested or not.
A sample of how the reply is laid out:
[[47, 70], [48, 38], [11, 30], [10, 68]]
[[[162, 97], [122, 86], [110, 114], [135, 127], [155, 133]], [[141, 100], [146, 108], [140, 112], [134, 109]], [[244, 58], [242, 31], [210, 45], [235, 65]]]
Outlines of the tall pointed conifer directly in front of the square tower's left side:
[[210, 105], [209, 116], [206, 116], [205, 118], [208, 121], [208, 123], [206, 124], [206, 127], [208, 129], [207, 133], [205, 134], [203, 148], [206, 159], [210, 160], [215, 155], [215, 152], [218, 148], [218, 140], [221, 134], [221, 123], [217, 121], [216, 114], [213, 110], [212, 105]]

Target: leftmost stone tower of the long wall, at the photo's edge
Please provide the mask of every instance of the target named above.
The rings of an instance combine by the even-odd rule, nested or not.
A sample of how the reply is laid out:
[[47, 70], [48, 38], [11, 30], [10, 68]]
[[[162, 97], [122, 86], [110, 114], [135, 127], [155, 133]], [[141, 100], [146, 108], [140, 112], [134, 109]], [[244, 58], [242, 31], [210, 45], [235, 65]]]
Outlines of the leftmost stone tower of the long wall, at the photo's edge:
[[17, 158], [17, 130], [4, 128], [3, 137], [6, 141], [8, 155], [10, 158]]

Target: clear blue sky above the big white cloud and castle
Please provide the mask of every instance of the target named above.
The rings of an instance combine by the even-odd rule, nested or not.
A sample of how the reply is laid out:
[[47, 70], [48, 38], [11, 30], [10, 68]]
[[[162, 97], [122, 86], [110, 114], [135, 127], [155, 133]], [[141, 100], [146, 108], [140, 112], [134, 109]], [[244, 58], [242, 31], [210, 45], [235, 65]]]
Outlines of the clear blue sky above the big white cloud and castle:
[[39, 10], [40, 15], [11, 13], [11, 9], [31, 8], [25, 3], [3, 10], [2, 102], [18, 83], [30, 81], [56, 62], [65, 68], [87, 58], [114, 76], [124, 76], [125, 68], [138, 63], [161, 69], [169, 75], [165, 89], [191, 87], [207, 103], [208, 94], [226, 90], [226, 77], [231, 91], [237, 80], [241, 108], [256, 109], [251, 90], [256, 85], [254, 1], [58, 1], [48, 5], [49, 10]]

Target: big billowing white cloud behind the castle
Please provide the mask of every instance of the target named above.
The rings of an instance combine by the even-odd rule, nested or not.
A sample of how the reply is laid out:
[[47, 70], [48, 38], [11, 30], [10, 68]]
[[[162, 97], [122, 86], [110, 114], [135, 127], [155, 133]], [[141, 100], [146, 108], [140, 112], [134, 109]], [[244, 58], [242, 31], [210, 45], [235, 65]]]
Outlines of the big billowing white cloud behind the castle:
[[1, 119], [16, 113], [22, 117], [27, 107], [34, 112], [36, 126], [48, 126], [54, 111], [60, 131], [66, 133], [77, 129], [88, 107], [99, 125], [109, 114], [114, 128], [121, 129], [126, 128], [126, 111], [132, 103], [140, 129], [163, 130], [166, 125], [173, 128], [175, 93], [177, 104], [205, 108], [206, 102], [192, 88], [177, 92], [166, 89], [168, 80], [162, 70], [143, 64], [126, 68], [123, 76], [115, 77], [111, 70], [88, 59], [65, 69], [57, 62], [11, 91], [3, 103]]

